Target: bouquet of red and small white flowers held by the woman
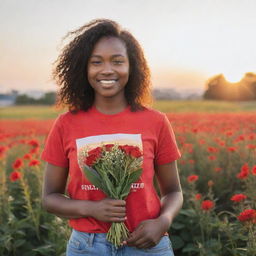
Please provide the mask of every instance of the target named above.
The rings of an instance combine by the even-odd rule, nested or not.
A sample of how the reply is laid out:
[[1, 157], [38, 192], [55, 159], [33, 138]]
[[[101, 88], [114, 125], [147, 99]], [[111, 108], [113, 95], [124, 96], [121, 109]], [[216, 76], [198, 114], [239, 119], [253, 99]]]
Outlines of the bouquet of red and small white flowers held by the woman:
[[[137, 146], [106, 144], [85, 152], [87, 179], [112, 199], [124, 200], [142, 173], [142, 152]], [[116, 247], [129, 235], [124, 222], [112, 223], [107, 240]]]

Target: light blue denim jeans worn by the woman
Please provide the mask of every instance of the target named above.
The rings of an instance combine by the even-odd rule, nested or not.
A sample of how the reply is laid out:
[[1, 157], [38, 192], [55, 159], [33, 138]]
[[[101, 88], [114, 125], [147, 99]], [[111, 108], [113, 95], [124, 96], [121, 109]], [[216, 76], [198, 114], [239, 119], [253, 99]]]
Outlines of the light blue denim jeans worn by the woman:
[[106, 240], [105, 233], [85, 233], [73, 229], [67, 244], [67, 256], [174, 256], [171, 241], [163, 236], [160, 242], [150, 249], [122, 246], [115, 248]]

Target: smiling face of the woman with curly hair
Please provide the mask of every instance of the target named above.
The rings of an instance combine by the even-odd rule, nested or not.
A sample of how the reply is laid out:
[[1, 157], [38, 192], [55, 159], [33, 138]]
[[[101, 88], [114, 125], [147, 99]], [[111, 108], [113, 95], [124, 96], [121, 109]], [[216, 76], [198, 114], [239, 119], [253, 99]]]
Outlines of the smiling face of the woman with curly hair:
[[129, 79], [129, 59], [124, 43], [116, 37], [103, 37], [88, 62], [88, 81], [96, 99], [122, 97]]

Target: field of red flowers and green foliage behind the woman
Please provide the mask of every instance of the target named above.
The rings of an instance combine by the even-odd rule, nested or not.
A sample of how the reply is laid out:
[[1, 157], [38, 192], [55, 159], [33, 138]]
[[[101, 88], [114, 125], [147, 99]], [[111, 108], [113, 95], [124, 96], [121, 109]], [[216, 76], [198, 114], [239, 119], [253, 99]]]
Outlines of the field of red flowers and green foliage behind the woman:
[[[256, 255], [256, 114], [169, 113], [182, 153], [179, 256]], [[0, 121], [0, 255], [64, 255], [66, 220], [41, 208], [40, 153], [53, 124]]]

